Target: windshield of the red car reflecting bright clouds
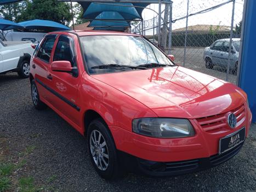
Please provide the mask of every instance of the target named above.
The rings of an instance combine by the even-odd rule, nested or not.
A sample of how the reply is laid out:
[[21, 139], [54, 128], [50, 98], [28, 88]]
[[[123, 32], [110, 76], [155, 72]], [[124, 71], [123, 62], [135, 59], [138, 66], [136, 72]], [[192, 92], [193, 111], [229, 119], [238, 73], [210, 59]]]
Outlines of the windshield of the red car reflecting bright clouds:
[[[114, 67], [117, 65], [136, 67], [157, 63], [173, 66], [166, 55], [146, 39], [138, 36], [83, 36], [81, 44], [89, 73], [115, 72], [117, 69]], [[104, 65], [112, 67], [95, 67]]]

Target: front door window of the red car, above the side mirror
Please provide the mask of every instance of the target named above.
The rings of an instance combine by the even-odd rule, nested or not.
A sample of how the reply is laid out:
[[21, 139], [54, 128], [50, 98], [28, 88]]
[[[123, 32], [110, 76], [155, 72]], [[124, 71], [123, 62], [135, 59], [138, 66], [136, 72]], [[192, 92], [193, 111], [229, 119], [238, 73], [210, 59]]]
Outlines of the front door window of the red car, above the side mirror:
[[72, 67], [76, 66], [75, 51], [73, 49], [73, 39], [67, 36], [60, 36], [55, 49], [53, 61], [70, 61]]

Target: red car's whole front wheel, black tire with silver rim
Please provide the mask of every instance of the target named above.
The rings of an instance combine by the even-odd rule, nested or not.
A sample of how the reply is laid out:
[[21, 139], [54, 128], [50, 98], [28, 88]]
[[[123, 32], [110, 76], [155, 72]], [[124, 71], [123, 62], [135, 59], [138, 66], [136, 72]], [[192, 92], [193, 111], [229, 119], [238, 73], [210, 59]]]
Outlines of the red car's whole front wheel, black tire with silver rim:
[[102, 119], [89, 124], [87, 144], [92, 164], [101, 177], [112, 180], [122, 176], [115, 142]]

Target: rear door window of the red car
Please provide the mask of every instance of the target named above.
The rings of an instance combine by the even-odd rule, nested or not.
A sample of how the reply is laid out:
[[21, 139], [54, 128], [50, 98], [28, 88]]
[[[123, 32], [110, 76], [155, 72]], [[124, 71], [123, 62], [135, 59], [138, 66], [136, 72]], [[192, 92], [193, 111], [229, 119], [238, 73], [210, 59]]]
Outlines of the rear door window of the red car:
[[52, 53], [54, 42], [55, 38], [45, 38], [43, 44], [40, 46], [37, 52], [37, 57], [49, 63], [50, 54]]

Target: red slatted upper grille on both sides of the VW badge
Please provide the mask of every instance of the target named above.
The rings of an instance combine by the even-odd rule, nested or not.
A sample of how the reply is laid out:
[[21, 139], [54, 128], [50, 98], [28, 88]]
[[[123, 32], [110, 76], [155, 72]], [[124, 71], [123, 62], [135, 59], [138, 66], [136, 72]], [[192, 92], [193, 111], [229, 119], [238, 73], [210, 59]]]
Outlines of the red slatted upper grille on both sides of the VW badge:
[[[244, 104], [231, 110], [230, 112], [236, 115], [237, 126], [241, 125], [246, 118], [246, 110]], [[229, 125], [226, 121], [226, 113], [220, 113], [209, 117], [203, 117], [196, 119], [201, 125], [202, 129], [207, 132], [217, 131], [218, 129], [228, 128]]]

